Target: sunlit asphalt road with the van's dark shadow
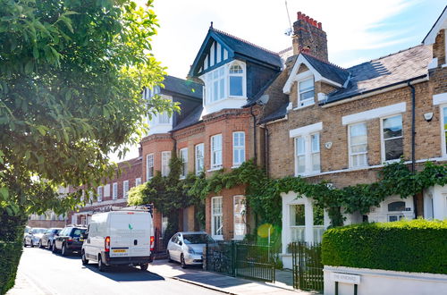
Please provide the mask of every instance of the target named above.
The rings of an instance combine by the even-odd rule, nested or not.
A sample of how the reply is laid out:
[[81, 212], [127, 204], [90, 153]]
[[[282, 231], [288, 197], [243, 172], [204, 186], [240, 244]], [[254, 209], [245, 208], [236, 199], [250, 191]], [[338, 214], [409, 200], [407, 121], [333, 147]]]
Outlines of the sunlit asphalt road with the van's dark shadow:
[[181, 282], [139, 268], [122, 266], [97, 270], [97, 264], [84, 266], [80, 257], [62, 257], [47, 249], [26, 248], [19, 272], [43, 294], [223, 294]]

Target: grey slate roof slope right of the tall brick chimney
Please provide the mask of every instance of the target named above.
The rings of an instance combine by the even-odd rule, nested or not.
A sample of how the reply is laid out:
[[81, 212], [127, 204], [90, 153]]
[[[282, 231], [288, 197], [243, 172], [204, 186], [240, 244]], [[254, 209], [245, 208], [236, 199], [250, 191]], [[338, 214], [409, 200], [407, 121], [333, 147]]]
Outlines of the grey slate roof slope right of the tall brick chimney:
[[350, 67], [347, 88], [328, 95], [325, 104], [424, 76], [431, 60], [430, 46], [420, 45]]

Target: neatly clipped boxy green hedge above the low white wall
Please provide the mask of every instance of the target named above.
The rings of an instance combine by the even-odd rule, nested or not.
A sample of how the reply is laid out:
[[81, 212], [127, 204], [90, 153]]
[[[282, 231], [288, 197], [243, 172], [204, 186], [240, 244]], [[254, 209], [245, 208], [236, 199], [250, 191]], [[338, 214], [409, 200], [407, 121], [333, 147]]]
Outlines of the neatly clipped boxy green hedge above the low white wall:
[[447, 220], [333, 228], [322, 246], [324, 265], [447, 274]]

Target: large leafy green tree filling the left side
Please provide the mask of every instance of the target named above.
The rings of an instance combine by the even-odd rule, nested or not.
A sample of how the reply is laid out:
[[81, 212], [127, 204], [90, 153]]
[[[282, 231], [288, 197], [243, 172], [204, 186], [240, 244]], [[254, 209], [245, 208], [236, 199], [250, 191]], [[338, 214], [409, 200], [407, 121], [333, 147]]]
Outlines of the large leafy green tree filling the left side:
[[[0, 257], [4, 245], [21, 241], [27, 215], [80, 203], [80, 193], [59, 198], [58, 186], [97, 186], [114, 173], [107, 155], [137, 143], [147, 115], [178, 110], [140, 94], [164, 77], [150, 55], [151, 7], [152, 0], [145, 8], [130, 0], [0, 0], [0, 223], [7, 224]], [[16, 266], [0, 262], [0, 277], [9, 279], [0, 293]]]

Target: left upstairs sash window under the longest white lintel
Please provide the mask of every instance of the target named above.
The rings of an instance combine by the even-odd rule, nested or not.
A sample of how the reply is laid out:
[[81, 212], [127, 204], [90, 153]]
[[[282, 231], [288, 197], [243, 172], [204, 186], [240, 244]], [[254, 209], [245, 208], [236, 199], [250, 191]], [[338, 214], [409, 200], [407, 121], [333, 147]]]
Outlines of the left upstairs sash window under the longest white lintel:
[[352, 124], [348, 130], [350, 167], [367, 166], [367, 123]]

